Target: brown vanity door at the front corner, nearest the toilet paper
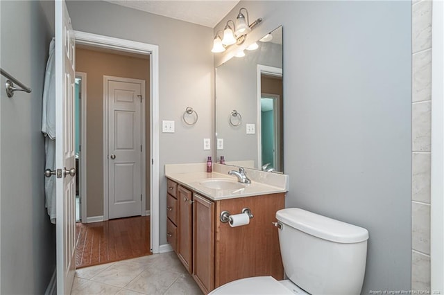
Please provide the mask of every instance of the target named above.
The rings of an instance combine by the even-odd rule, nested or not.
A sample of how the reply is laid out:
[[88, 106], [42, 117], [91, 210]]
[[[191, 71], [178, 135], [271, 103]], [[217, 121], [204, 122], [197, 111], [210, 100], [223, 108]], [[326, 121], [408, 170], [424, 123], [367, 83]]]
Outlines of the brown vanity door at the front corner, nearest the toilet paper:
[[214, 289], [214, 203], [193, 197], [193, 277], [207, 294]]

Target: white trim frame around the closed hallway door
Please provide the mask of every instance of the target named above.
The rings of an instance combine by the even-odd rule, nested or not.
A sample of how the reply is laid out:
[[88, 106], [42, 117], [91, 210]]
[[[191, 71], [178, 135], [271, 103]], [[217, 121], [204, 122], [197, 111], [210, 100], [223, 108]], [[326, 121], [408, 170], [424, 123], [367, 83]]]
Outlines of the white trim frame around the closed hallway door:
[[142, 199], [140, 202], [140, 215], [145, 216], [146, 214], [146, 164], [145, 164], [145, 134], [146, 134], [146, 114], [145, 114], [145, 101], [144, 98], [146, 93], [146, 81], [140, 79], [115, 77], [111, 75], [103, 75], [103, 218], [109, 220], [109, 175], [108, 175], [108, 82], [118, 81], [118, 82], [128, 82], [140, 84], [142, 86], [142, 107], [140, 112], [140, 144], [142, 145], [141, 158], [140, 158], [140, 193]]

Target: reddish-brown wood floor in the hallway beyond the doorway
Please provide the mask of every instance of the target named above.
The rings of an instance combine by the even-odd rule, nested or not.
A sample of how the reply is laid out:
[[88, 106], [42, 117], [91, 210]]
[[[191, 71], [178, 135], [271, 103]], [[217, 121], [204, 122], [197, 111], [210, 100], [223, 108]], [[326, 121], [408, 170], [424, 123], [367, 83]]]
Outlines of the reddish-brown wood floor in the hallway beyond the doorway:
[[150, 217], [76, 224], [76, 268], [150, 255]]

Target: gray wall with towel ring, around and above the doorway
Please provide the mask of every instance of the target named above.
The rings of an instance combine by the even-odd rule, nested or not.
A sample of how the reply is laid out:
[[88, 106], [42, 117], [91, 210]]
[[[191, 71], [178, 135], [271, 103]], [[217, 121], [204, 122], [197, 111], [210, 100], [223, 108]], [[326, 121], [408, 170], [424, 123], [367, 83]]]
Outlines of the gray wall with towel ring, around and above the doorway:
[[[124, 8], [105, 1], [68, 1], [74, 30], [159, 46], [159, 118], [175, 120], [176, 133], [160, 133], [160, 244], [167, 244], [167, 179], [164, 165], [203, 162], [203, 138], [213, 138], [212, 28]], [[186, 107], [196, 125], [182, 121]], [[214, 143], [212, 143], [214, 145]]]

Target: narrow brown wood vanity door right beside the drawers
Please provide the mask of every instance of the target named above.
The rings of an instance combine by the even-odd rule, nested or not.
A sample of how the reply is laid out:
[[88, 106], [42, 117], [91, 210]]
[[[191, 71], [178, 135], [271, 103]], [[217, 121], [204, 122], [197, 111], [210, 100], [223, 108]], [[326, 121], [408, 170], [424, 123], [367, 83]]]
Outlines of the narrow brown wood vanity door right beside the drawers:
[[178, 256], [190, 274], [193, 270], [192, 202], [191, 192], [178, 186]]

